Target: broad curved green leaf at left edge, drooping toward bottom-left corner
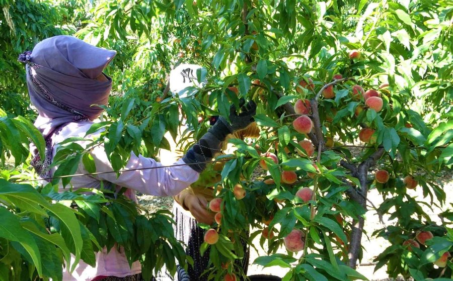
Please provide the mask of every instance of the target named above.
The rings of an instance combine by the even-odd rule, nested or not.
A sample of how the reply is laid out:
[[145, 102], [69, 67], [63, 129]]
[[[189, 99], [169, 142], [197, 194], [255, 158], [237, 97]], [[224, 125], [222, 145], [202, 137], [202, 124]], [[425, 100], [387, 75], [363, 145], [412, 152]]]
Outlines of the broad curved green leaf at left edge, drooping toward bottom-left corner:
[[33, 260], [39, 276], [42, 276], [41, 254], [35, 239], [25, 230], [13, 213], [5, 208], [0, 208], [0, 237], [20, 243]]

